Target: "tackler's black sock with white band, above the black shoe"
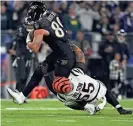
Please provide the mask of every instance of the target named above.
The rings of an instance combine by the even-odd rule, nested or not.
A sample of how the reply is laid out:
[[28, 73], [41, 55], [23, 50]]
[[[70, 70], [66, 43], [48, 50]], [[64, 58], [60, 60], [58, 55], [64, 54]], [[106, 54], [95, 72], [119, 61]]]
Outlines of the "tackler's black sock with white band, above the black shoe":
[[107, 102], [109, 104], [111, 104], [116, 109], [121, 108], [120, 103], [117, 101], [116, 97], [113, 95], [113, 93], [111, 91], [107, 91], [105, 96], [106, 96]]

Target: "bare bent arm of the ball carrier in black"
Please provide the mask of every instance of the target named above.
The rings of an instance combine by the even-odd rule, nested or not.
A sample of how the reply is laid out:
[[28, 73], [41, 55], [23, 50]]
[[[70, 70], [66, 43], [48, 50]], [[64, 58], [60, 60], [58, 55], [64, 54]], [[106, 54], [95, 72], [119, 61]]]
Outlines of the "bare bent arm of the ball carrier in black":
[[43, 37], [48, 36], [49, 34], [49, 31], [44, 29], [35, 30], [33, 33], [33, 41], [27, 43], [28, 48], [37, 53], [41, 47]]

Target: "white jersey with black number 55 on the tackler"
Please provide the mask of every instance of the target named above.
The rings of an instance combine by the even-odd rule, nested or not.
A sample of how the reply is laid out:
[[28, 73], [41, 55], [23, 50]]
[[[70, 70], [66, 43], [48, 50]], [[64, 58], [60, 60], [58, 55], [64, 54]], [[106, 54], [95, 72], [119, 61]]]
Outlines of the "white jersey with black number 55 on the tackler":
[[101, 86], [102, 83], [100, 81], [85, 75], [79, 68], [72, 69], [68, 78], [73, 84], [73, 90], [68, 94], [62, 95], [66, 100], [92, 102], [106, 94], [106, 88], [103, 85]]

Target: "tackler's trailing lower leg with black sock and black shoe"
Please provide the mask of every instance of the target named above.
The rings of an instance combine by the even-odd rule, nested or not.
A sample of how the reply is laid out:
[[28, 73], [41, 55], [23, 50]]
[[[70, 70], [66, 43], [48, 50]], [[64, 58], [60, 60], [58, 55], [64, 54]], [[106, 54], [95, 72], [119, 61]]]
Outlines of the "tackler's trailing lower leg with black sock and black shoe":
[[111, 104], [113, 107], [115, 107], [120, 114], [132, 114], [132, 111], [123, 109], [123, 107], [120, 105], [120, 103], [117, 101], [116, 97], [113, 95], [111, 91], [107, 90], [105, 96], [107, 102]]

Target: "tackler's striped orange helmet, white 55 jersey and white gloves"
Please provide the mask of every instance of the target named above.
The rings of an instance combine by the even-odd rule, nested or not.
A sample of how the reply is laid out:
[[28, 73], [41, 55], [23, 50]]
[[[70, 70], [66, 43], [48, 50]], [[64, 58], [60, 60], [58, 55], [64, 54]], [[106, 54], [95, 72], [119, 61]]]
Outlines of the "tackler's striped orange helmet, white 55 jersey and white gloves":
[[90, 115], [106, 105], [106, 87], [100, 81], [85, 75], [80, 68], [73, 68], [68, 79], [55, 80], [53, 88], [59, 92], [57, 97], [66, 106], [71, 108], [79, 106], [81, 110], [87, 110]]

